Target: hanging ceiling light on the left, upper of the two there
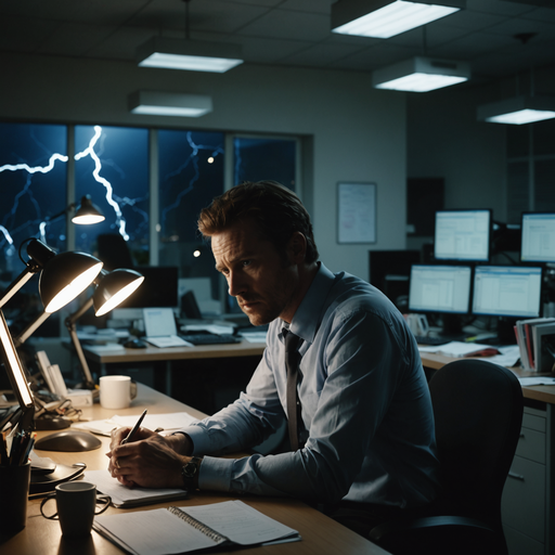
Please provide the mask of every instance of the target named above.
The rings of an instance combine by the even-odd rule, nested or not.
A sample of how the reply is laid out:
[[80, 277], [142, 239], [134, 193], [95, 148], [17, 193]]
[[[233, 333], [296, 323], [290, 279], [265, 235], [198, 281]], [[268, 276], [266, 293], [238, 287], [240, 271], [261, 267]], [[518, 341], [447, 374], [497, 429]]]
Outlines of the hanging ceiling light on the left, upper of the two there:
[[241, 44], [154, 37], [137, 49], [141, 67], [224, 73], [243, 63]]

